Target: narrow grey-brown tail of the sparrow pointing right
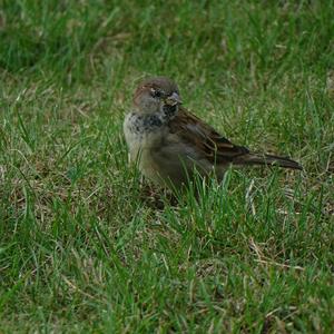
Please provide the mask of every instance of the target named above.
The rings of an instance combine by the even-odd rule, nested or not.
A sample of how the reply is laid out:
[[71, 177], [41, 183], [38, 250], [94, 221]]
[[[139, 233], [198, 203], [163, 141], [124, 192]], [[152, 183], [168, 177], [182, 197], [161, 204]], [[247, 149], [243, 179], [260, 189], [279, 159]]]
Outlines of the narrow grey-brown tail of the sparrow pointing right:
[[278, 157], [273, 155], [245, 154], [234, 160], [236, 165], [268, 165], [279, 166], [283, 168], [292, 168], [303, 170], [303, 167], [287, 157]]

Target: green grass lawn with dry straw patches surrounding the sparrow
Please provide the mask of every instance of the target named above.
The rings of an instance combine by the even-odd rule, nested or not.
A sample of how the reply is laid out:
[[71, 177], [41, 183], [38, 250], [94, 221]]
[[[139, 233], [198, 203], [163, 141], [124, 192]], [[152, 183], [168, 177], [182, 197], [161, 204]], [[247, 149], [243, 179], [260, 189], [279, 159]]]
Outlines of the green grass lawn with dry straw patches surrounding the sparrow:
[[[333, 1], [0, 4], [1, 332], [333, 331]], [[305, 171], [157, 208], [121, 130], [147, 75]]]

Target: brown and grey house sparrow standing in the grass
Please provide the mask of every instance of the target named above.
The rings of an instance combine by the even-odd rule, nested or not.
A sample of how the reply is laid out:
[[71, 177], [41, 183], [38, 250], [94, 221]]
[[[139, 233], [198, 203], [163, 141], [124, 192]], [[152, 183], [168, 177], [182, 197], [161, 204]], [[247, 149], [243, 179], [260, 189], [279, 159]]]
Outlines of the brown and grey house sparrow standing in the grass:
[[124, 132], [130, 159], [138, 160], [141, 174], [161, 186], [179, 188], [194, 179], [195, 170], [200, 176], [214, 173], [222, 180], [230, 164], [302, 169], [289, 158], [259, 155], [232, 144], [183, 108], [177, 85], [165, 77], [138, 86]]

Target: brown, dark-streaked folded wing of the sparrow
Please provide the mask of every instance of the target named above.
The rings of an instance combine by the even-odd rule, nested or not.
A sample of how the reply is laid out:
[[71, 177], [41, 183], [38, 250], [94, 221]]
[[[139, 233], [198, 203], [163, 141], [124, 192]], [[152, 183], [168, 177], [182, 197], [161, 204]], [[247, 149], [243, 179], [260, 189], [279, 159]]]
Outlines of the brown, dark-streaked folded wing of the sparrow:
[[232, 144], [220, 136], [213, 127], [195, 115], [180, 108], [175, 118], [169, 121], [170, 132], [180, 137], [188, 145], [196, 147], [212, 164], [228, 164], [246, 155], [246, 147]]

